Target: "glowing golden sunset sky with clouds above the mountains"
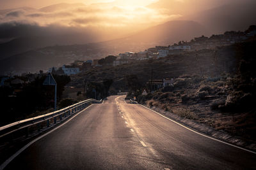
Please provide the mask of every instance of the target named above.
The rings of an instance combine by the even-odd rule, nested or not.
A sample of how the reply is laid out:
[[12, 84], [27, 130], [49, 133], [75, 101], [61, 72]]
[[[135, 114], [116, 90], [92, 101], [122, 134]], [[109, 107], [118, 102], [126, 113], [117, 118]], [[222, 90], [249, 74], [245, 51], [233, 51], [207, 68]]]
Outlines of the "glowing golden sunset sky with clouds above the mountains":
[[106, 41], [236, 1], [252, 0], [0, 0], [0, 43], [42, 32]]

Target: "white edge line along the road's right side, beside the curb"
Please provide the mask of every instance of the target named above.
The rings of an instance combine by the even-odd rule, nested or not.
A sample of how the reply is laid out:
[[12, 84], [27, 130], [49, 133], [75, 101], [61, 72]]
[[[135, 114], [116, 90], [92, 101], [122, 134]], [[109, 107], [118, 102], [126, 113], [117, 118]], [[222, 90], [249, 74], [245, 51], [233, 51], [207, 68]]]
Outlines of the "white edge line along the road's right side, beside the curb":
[[[140, 104], [140, 106], [143, 106], [143, 105]], [[146, 106], [143, 106], [143, 107], [144, 107], [144, 108], [147, 108]], [[152, 109], [150, 109], [150, 108], [147, 108], [147, 109], [153, 111], [154, 113], [157, 113], [157, 111], [154, 111], [154, 110], [152, 110]], [[160, 113], [157, 113], [157, 114], [160, 115], [161, 117], [164, 117], [164, 115], [161, 115]], [[225, 143], [225, 144], [227, 144], [227, 145], [229, 145], [229, 146], [233, 146], [233, 147], [235, 147], [235, 148], [239, 148], [239, 149], [241, 149], [241, 150], [245, 150], [245, 151], [247, 151], [247, 152], [251, 152], [251, 153], [256, 154], [256, 152], [253, 152], [252, 150], [247, 150], [247, 149], [242, 148], [242, 147], [240, 147], [240, 146], [232, 145], [232, 144], [227, 143], [227, 142], [225, 142], [225, 141], [221, 141], [221, 140], [219, 140], [219, 139], [212, 138], [212, 137], [207, 136], [207, 135], [205, 135], [205, 134], [202, 134], [202, 133], [200, 133], [200, 132], [196, 132], [196, 131], [194, 131], [193, 129], [190, 129], [190, 128], [188, 128], [188, 127], [186, 127], [186, 126], [184, 126], [184, 125], [182, 125], [182, 124], [180, 124], [180, 123], [176, 122], [175, 120], [172, 120], [172, 119], [170, 119], [170, 118], [168, 118], [168, 117], [164, 117], [164, 118], [166, 118], [166, 119], [168, 119], [168, 120], [174, 122], [175, 124], [178, 124], [178, 125], [184, 127], [185, 129], [188, 129], [189, 131], [192, 131], [192, 132], [195, 132], [196, 134], [199, 134], [199, 135], [201, 135], [201, 136], [204, 136], [205, 138], [209, 138], [209, 139], [212, 139], [212, 140], [214, 140], [214, 141], [218, 141], [218, 142], [221, 142], [221, 143]]]

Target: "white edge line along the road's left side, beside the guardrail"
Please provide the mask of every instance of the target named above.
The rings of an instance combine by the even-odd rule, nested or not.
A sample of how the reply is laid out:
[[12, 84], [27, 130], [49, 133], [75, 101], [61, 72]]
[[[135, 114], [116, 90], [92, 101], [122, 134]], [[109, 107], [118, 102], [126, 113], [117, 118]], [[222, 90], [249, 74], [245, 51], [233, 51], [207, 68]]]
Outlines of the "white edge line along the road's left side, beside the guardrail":
[[[92, 104], [93, 105], [93, 104]], [[85, 108], [84, 110], [87, 110], [88, 108], [90, 108], [92, 105], [88, 106], [87, 108]], [[74, 117], [70, 118], [69, 120], [67, 120], [67, 122], [64, 122], [63, 124], [59, 125], [58, 127], [52, 129], [51, 131], [47, 132], [46, 134], [39, 136], [38, 138], [34, 139], [33, 141], [29, 142], [27, 145], [25, 145], [23, 148], [21, 148], [20, 150], [18, 150], [16, 153], [14, 153], [14, 155], [12, 155], [9, 159], [7, 159], [3, 164], [1, 164], [0, 169], [4, 169], [4, 167], [6, 167], [10, 162], [12, 162], [13, 159], [15, 159], [15, 157], [17, 157], [20, 153], [22, 153], [24, 150], [26, 150], [26, 148], [28, 148], [30, 145], [32, 145], [33, 143], [35, 143], [36, 141], [38, 141], [41, 138], [44, 138], [45, 136], [47, 136], [48, 134], [50, 134], [53, 131], [56, 131], [57, 129], [59, 129], [60, 127], [62, 127], [63, 125], [67, 124], [70, 120], [72, 120], [73, 118], [77, 117], [77, 115], [79, 115], [82, 111], [79, 111], [76, 115], [74, 115]]]

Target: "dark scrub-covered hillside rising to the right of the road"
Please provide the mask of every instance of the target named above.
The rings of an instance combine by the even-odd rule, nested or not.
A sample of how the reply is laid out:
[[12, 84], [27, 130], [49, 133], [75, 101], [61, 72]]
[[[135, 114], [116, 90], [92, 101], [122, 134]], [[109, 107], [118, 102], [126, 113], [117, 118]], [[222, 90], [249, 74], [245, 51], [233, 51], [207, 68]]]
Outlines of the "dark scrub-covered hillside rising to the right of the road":
[[[129, 92], [128, 99], [136, 96], [140, 104], [167, 117], [179, 115], [239, 136], [249, 144], [255, 143], [255, 46], [253, 40], [216, 50], [169, 55], [116, 67], [95, 67], [71, 76], [68, 85], [82, 87], [84, 80], [90, 84], [110, 78], [114, 80], [111, 94], [120, 90]], [[141, 96], [144, 89], [149, 91], [147, 81], [151, 76], [173, 78], [174, 83]]]

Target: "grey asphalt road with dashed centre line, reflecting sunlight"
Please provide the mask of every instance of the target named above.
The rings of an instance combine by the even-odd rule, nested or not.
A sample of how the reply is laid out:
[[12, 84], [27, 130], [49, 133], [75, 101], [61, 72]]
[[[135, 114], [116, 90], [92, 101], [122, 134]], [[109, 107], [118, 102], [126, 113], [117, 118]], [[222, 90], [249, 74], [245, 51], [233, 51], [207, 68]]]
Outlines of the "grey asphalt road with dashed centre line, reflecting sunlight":
[[111, 96], [39, 139], [6, 169], [256, 169], [256, 154]]

